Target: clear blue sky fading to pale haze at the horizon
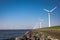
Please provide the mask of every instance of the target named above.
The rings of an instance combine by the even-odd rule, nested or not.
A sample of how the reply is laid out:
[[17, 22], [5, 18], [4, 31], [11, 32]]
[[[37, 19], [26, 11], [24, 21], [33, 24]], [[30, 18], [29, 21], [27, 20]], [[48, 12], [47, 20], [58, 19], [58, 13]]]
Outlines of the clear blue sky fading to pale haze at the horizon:
[[60, 25], [60, 0], [0, 0], [0, 29], [33, 29], [48, 27], [51, 10], [51, 26]]

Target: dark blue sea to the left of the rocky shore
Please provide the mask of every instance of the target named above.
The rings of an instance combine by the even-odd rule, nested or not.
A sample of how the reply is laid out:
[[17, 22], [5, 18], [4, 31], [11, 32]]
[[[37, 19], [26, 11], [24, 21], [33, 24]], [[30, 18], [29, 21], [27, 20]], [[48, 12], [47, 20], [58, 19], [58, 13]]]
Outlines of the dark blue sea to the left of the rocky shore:
[[0, 30], [0, 40], [16, 38], [22, 36], [30, 29], [21, 29], [21, 30]]

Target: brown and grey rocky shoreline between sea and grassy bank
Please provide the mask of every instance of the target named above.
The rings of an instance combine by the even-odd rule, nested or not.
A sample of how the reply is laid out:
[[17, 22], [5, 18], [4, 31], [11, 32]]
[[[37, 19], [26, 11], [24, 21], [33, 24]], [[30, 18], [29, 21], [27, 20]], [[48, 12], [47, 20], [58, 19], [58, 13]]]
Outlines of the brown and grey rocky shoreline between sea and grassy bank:
[[27, 31], [24, 35], [16, 37], [15, 40], [58, 40], [43, 32]]

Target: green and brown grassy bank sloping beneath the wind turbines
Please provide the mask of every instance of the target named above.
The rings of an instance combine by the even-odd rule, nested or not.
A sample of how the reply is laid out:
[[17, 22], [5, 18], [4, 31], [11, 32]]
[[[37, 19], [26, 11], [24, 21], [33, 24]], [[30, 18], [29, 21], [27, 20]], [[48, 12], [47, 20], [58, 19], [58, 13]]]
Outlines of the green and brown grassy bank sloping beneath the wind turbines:
[[47, 35], [58, 38], [60, 40], [60, 26], [38, 28], [35, 29], [34, 32], [38, 32], [38, 33], [43, 32], [46, 33]]

